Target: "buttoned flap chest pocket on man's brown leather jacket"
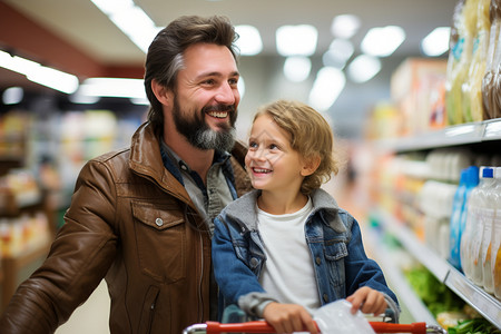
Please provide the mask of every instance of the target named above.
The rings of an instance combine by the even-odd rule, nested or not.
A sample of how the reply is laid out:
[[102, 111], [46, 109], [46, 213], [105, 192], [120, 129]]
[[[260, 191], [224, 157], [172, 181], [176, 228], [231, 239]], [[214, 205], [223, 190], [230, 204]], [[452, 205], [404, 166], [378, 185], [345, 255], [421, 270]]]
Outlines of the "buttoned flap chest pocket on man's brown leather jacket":
[[132, 202], [137, 256], [144, 274], [160, 283], [186, 277], [186, 229], [179, 207]]

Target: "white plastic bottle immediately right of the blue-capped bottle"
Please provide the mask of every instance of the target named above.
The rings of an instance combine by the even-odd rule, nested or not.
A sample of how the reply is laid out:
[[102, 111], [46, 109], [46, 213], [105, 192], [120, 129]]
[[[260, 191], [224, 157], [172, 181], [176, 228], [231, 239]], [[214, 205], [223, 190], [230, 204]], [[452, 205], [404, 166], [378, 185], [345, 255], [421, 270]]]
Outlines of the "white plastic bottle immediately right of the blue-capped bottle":
[[[481, 244], [481, 264], [482, 264], [482, 285], [485, 292], [494, 293], [494, 282], [491, 266], [491, 252], [492, 252], [492, 232], [494, 230], [495, 218], [495, 203], [498, 196], [498, 185], [501, 179], [501, 173], [497, 173], [499, 168], [492, 168], [493, 181], [484, 190], [485, 207], [482, 209], [483, 218], [483, 237]], [[501, 169], [499, 170], [501, 171]]]

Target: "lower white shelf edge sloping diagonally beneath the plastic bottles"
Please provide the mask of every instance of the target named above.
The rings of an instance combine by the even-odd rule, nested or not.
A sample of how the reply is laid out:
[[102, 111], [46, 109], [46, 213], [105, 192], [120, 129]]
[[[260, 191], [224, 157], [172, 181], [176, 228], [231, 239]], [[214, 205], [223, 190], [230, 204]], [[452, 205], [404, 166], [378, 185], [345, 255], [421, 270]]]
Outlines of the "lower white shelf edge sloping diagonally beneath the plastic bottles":
[[446, 261], [423, 245], [414, 234], [391, 215], [377, 213], [383, 228], [391, 232], [411, 255], [420, 261], [436, 278], [451, 288], [485, 320], [501, 328], [501, 302], [474, 285]]

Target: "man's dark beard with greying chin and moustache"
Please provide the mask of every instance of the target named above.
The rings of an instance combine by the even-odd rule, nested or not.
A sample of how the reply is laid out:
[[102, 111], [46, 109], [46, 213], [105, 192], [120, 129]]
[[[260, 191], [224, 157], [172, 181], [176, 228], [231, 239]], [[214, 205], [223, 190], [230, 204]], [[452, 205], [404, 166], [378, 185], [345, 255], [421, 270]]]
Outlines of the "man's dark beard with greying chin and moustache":
[[[228, 110], [229, 109], [229, 125], [219, 125], [220, 130], [213, 130], [205, 122], [205, 114], [209, 110]], [[193, 118], [188, 119], [187, 112], [183, 114], [177, 98], [174, 99], [173, 116], [179, 134], [193, 146], [199, 149], [218, 149], [230, 151], [235, 144], [235, 121], [236, 110], [235, 106], [217, 105], [204, 107], [200, 112], [191, 112]]]

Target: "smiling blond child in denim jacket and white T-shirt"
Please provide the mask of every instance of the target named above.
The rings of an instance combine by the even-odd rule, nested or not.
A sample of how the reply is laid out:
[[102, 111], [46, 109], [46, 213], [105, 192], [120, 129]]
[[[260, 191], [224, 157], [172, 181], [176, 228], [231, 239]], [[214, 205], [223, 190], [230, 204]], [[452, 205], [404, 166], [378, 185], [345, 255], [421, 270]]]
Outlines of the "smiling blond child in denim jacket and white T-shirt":
[[245, 165], [254, 191], [215, 219], [213, 261], [225, 305], [277, 333], [317, 333], [311, 313], [340, 298], [352, 312], [399, 305], [369, 259], [356, 220], [321, 185], [336, 174], [332, 129], [313, 108], [278, 100], [254, 118]]

